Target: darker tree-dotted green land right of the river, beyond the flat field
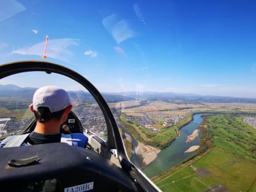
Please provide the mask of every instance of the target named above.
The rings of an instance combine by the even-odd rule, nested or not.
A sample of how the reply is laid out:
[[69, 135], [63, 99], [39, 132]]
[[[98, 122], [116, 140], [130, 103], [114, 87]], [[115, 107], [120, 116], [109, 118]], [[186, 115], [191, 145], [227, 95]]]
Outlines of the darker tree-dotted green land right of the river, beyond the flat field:
[[[243, 122], [243, 116], [214, 115], [207, 118], [207, 123], [216, 125], [216, 127], [209, 127], [214, 134], [212, 141], [216, 147], [237, 157], [256, 161], [256, 129]], [[234, 131], [230, 128], [255, 133]]]

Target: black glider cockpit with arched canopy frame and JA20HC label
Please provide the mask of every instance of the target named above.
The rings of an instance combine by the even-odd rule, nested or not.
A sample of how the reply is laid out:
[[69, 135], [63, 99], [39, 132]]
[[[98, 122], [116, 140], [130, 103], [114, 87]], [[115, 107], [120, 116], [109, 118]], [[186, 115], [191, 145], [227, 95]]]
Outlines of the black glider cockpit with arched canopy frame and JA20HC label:
[[[0, 148], [0, 186], [8, 191], [159, 191], [131, 163], [125, 152], [115, 117], [99, 91], [73, 70], [42, 61], [20, 61], [0, 65], [0, 79], [23, 72], [60, 74], [81, 84], [99, 104], [106, 122], [106, 138], [95, 134], [69, 113], [61, 132], [83, 133], [88, 138], [85, 148], [67, 143], [48, 143], [28, 147]], [[22, 135], [35, 129], [35, 120]], [[4, 138], [1, 138], [3, 140]], [[1, 141], [0, 140], [0, 141]]]

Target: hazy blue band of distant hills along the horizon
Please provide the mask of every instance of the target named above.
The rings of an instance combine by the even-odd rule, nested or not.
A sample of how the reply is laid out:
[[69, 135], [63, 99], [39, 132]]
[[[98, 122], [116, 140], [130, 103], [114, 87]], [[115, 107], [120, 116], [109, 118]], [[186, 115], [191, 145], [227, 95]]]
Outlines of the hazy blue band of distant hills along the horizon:
[[[17, 108], [19, 102], [21, 106], [27, 106], [33, 99], [33, 94], [37, 88], [20, 88], [14, 84], [0, 84], [0, 107]], [[72, 91], [68, 92], [70, 99], [79, 100], [79, 102], [95, 102], [89, 92]], [[211, 103], [256, 103], [255, 98], [239, 98], [239, 97], [220, 97], [220, 96], [204, 96], [191, 93], [172, 93], [172, 92], [120, 92], [120, 93], [102, 93], [107, 102], [120, 102], [125, 100], [163, 100], [177, 104], [200, 104], [202, 102]], [[10, 104], [10, 102], [13, 102]]]

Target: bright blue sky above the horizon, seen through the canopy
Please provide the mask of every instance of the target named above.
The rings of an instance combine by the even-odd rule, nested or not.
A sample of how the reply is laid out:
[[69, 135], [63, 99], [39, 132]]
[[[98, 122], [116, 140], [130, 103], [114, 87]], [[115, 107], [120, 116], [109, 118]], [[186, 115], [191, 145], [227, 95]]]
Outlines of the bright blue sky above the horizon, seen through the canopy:
[[[100, 92], [256, 97], [256, 1], [0, 1], [0, 63], [72, 68]], [[0, 83], [58, 84], [24, 75]], [[44, 79], [44, 81], [42, 81]], [[69, 81], [68, 81], [69, 82]]]

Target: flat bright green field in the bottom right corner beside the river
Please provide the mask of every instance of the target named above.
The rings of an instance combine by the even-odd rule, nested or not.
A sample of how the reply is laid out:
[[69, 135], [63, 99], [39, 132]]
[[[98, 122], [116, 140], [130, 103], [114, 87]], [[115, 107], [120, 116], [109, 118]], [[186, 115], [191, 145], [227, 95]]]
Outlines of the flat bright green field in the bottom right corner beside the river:
[[[205, 191], [221, 184], [228, 191], [248, 191], [255, 179], [255, 163], [237, 159], [220, 148], [212, 149], [192, 165], [193, 168], [185, 166], [167, 179], [157, 182], [157, 186], [163, 191]], [[195, 172], [195, 167], [207, 169], [211, 173], [202, 176]]]

